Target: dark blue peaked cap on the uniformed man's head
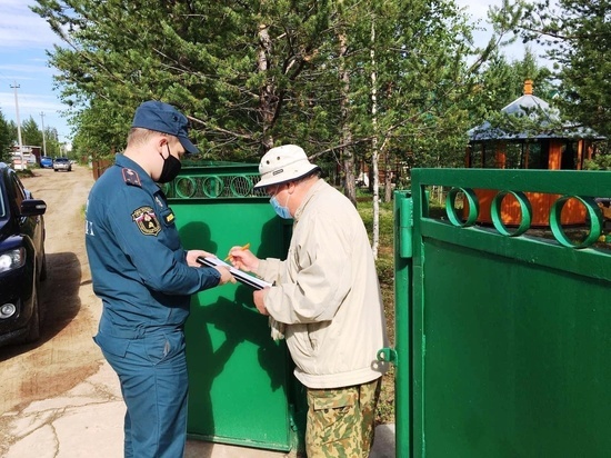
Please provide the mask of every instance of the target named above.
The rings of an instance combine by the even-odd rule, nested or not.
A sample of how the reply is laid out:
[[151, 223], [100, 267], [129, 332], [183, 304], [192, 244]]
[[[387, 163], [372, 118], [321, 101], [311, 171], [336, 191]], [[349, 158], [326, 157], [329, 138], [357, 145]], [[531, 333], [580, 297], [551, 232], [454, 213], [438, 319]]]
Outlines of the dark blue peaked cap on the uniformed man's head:
[[174, 107], [157, 100], [143, 102], [136, 110], [131, 127], [154, 130], [177, 137], [188, 153], [198, 153], [199, 149], [189, 140], [189, 121]]

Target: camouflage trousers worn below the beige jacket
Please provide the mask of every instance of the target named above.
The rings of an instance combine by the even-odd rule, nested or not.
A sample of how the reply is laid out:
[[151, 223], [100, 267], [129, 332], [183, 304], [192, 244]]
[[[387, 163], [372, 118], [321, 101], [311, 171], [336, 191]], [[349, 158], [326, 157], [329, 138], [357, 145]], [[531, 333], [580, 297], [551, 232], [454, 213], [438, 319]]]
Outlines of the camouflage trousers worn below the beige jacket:
[[337, 389], [308, 388], [308, 458], [369, 457], [381, 380]]

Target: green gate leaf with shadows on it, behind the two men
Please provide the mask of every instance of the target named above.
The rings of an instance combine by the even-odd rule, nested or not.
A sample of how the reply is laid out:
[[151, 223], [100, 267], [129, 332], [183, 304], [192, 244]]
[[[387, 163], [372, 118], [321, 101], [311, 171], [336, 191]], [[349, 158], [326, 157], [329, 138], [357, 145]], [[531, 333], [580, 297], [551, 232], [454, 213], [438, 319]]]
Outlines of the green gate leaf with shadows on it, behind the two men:
[[[258, 257], [284, 258], [291, 226], [252, 189], [257, 170], [226, 163], [186, 168], [166, 187], [186, 249], [223, 259], [232, 246], [250, 242]], [[186, 339], [189, 437], [287, 451], [300, 447], [302, 387], [284, 341], [272, 340], [268, 317], [252, 303], [252, 289], [223, 285], [193, 296]]]

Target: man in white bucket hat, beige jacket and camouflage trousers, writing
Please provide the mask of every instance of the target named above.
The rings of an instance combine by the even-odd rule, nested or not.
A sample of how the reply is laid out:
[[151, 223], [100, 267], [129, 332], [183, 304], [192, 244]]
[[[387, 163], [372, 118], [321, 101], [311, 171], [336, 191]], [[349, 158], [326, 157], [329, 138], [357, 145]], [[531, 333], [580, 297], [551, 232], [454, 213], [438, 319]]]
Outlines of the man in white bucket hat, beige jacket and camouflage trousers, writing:
[[287, 338], [294, 376], [308, 391], [308, 457], [368, 457], [388, 345], [380, 286], [364, 225], [345, 196], [320, 179], [303, 149], [270, 149], [259, 165], [270, 203], [293, 219], [287, 260], [233, 247], [236, 267], [273, 283], [254, 291]]

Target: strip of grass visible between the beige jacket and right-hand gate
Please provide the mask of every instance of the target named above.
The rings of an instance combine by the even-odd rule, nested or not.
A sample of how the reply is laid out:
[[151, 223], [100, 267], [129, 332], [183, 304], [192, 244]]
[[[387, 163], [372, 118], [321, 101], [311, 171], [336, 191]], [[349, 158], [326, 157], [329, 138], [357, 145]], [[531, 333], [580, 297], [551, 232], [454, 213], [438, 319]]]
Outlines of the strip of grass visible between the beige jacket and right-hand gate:
[[[370, 239], [373, 233], [373, 202], [372, 196], [359, 191], [357, 209], [365, 225]], [[375, 267], [384, 302], [387, 317], [387, 332], [390, 346], [394, 347], [394, 249], [393, 249], [393, 202], [380, 203], [380, 232], [378, 246], [378, 260]], [[394, 422], [394, 366], [382, 379], [382, 392], [378, 402], [375, 415], [377, 424]]]

